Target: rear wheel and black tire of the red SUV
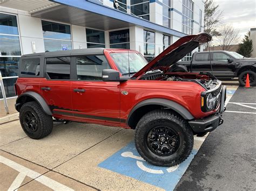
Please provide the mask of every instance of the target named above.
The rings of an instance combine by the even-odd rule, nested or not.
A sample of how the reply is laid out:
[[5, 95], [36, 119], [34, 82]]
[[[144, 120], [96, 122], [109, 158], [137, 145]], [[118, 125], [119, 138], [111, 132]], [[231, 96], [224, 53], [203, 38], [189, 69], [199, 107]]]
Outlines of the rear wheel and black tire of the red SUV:
[[37, 102], [22, 105], [19, 111], [19, 121], [23, 131], [32, 139], [41, 139], [52, 131], [52, 116], [45, 114]]

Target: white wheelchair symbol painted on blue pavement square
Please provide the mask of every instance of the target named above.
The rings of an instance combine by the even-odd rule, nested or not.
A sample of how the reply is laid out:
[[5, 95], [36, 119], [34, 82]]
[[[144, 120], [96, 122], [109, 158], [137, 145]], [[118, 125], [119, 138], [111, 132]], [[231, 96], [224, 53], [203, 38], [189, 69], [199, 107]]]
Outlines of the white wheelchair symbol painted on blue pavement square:
[[[143, 164], [143, 161], [145, 161], [142, 157], [139, 157], [139, 156], [136, 156], [134, 155], [132, 152], [123, 152], [122, 154], [122, 157], [130, 157], [132, 159], [136, 159], [136, 164], [137, 166], [142, 169], [143, 171], [145, 172], [148, 172], [148, 173], [153, 173], [153, 174], [164, 174], [164, 171], [161, 170], [161, 169], [152, 169], [152, 168], [148, 168], [146, 167], [144, 164]], [[169, 167], [169, 168], [166, 168], [166, 171], [168, 173], [170, 172], [173, 172], [173, 171], [176, 171], [176, 169], [179, 167], [179, 165], [176, 165], [176, 166], [172, 166], [172, 167]]]

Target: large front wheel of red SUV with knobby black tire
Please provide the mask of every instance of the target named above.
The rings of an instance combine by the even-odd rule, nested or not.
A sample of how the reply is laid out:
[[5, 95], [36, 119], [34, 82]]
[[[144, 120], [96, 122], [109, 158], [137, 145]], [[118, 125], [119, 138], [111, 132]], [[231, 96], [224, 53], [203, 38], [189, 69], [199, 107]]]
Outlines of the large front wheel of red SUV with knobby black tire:
[[194, 137], [183, 118], [169, 111], [154, 110], [138, 122], [134, 141], [147, 162], [156, 166], [175, 166], [190, 155]]

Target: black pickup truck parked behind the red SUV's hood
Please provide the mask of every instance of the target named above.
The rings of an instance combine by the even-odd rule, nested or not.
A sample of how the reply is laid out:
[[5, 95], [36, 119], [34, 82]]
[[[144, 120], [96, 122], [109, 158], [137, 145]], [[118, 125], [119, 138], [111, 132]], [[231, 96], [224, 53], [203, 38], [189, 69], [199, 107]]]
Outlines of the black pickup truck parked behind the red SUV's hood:
[[256, 84], [256, 58], [245, 58], [236, 52], [211, 51], [211, 56], [209, 52], [195, 52], [192, 61], [180, 61], [178, 64], [185, 65], [192, 72], [211, 73], [213, 70], [213, 75], [218, 79], [238, 77], [241, 86], [245, 86], [246, 75], [249, 74], [251, 86]]

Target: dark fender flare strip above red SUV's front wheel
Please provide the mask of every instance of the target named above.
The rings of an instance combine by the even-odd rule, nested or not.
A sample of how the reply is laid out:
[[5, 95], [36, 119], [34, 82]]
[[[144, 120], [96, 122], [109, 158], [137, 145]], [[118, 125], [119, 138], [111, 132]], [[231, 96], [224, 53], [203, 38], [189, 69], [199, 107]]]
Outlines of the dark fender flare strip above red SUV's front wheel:
[[137, 109], [145, 105], [161, 105], [163, 107], [166, 107], [166, 109], [172, 109], [173, 111], [176, 111], [179, 115], [181, 115], [186, 120], [191, 120], [194, 118], [186, 108], [184, 108], [182, 105], [176, 102], [173, 102], [171, 100], [166, 100], [163, 98], [151, 98], [151, 99], [147, 99], [142, 102], [139, 102], [137, 105], [135, 105], [130, 111], [130, 114], [126, 120], [126, 123], [129, 124], [130, 117], [132, 116], [134, 111], [136, 111]]

